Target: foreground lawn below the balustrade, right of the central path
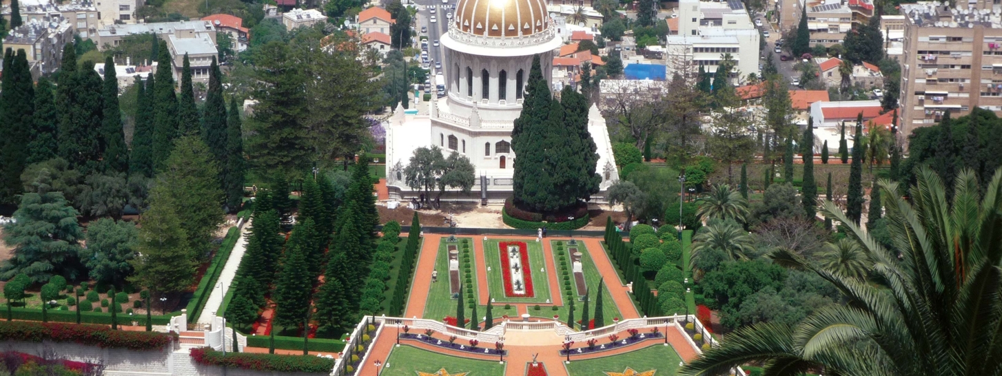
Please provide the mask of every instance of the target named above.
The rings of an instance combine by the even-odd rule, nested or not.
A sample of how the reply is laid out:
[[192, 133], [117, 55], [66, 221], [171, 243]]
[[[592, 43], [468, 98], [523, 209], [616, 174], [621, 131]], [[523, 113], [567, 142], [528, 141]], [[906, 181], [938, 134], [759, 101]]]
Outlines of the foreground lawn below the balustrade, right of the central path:
[[637, 351], [604, 358], [574, 360], [566, 364], [570, 376], [603, 376], [605, 372], [622, 373], [626, 367], [637, 373], [656, 370], [656, 376], [674, 375], [681, 358], [671, 346], [654, 345]]

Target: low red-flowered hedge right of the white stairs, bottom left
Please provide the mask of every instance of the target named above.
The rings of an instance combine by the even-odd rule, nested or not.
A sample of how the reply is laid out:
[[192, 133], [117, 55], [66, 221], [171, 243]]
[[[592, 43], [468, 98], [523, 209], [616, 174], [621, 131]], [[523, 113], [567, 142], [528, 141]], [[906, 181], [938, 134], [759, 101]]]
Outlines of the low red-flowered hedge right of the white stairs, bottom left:
[[210, 347], [191, 349], [191, 359], [206, 366], [222, 366], [255, 371], [329, 373], [334, 359], [305, 355], [225, 353]]

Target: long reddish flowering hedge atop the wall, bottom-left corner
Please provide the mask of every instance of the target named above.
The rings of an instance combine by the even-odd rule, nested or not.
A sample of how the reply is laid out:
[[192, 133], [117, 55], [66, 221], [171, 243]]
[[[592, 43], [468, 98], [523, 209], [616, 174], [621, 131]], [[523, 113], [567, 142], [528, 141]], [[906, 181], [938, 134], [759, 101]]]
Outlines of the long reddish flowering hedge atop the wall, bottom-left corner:
[[161, 350], [174, 339], [175, 335], [172, 334], [111, 330], [103, 325], [28, 321], [0, 322], [0, 341], [76, 342], [103, 348], [149, 351]]

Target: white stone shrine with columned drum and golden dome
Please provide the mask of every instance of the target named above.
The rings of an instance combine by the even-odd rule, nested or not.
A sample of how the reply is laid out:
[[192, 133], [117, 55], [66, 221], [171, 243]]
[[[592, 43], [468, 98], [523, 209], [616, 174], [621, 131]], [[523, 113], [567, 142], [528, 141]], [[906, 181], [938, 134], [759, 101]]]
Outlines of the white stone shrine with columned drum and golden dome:
[[[473, 193], [449, 193], [451, 200], [500, 202], [511, 196], [514, 159], [511, 131], [522, 110], [533, 56], [551, 80], [554, 49], [561, 39], [541, 0], [460, 0], [442, 36], [446, 93], [429, 102], [428, 115], [405, 114], [398, 107], [387, 126], [387, 187], [392, 198], [419, 194], [404, 181], [403, 169], [419, 147], [439, 146], [466, 155], [479, 175]], [[592, 106], [588, 131], [599, 155], [601, 190], [618, 172], [605, 120]]]

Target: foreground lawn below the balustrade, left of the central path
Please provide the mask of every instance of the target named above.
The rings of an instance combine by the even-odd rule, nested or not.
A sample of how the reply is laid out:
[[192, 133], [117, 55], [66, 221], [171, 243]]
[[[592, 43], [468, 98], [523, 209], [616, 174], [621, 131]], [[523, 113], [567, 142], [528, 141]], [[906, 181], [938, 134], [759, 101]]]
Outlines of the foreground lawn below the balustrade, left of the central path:
[[380, 370], [380, 375], [418, 376], [417, 372], [434, 374], [445, 368], [450, 375], [469, 373], [470, 376], [502, 376], [505, 365], [507, 363], [442, 355], [404, 345], [393, 349], [390, 358]]

